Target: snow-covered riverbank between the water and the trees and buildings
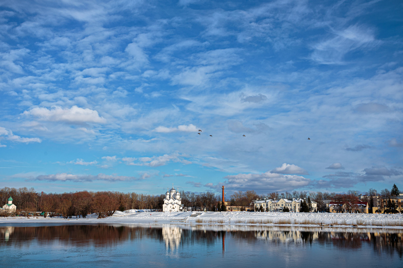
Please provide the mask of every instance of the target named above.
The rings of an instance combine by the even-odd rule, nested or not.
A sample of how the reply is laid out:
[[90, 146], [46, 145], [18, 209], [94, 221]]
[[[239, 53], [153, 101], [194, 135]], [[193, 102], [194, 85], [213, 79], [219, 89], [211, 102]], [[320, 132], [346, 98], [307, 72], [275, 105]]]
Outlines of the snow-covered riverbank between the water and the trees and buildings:
[[[138, 211], [138, 210], [137, 210]], [[403, 229], [402, 214], [348, 214], [348, 213], [290, 213], [290, 212], [115, 212], [113, 216], [97, 219], [95, 214], [86, 219], [61, 217], [4, 217], [4, 223], [115, 223], [115, 224], [185, 224], [185, 225], [283, 225]]]

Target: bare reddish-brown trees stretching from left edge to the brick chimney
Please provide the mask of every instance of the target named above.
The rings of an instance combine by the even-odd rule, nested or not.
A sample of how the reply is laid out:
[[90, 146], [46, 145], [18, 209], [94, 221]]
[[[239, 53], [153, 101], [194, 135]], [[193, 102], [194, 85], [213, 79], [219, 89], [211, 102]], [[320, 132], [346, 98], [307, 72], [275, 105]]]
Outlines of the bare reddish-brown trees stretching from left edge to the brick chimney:
[[[221, 197], [213, 192], [181, 192], [182, 204], [188, 210], [217, 211]], [[6, 204], [9, 197], [13, 198], [13, 204], [17, 210], [29, 212], [45, 212], [44, 216], [60, 214], [64, 218], [97, 213], [98, 217], [111, 216], [116, 210], [152, 209], [162, 210], [165, 195], [151, 195], [123, 193], [123, 192], [70, 192], [70, 193], [44, 193], [36, 192], [34, 188], [9, 188], [0, 189], [0, 204]], [[220, 206], [221, 207], [221, 206]]]

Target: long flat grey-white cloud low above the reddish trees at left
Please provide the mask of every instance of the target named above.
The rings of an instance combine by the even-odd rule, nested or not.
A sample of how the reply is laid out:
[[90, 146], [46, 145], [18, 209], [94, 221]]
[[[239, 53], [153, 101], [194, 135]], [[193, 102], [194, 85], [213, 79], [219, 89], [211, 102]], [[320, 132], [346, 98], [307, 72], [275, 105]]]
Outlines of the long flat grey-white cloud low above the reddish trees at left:
[[132, 181], [137, 180], [136, 177], [128, 177], [128, 176], [117, 176], [117, 175], [106, 175], [103, 173], [99, 173], [98, 175], [74, 175], [68, 173], [58, 173], [58, 174], [50, 174], [50, 175], [39, 175], [30, 180], [38, 180], [38, 181]]

